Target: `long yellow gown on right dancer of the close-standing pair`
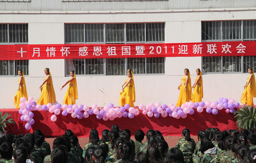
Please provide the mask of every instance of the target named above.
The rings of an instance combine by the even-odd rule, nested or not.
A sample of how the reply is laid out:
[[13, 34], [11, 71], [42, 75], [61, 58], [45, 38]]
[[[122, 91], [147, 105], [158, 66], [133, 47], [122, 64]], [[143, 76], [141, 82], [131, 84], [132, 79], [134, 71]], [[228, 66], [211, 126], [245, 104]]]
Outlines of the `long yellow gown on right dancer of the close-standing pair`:
[[[200, 102], [203, 98], [203, 86], [202, 86], [202, 74], [200, 72], [201, 78], [197, 81], [197, 85], [194, 88], [193, 94], [192, 94], [192, 102]], [[198, 76], [196, 77], [197, 80]]]

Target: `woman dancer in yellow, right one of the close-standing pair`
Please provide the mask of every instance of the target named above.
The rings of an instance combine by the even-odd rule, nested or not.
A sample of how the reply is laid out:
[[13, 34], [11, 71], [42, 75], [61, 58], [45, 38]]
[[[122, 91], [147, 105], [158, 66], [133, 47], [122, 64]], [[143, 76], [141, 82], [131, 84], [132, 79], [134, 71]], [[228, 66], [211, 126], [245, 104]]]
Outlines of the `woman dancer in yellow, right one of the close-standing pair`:
[[193, 84], [192, 88], [194, 88], [193, 94], [192, 94], [192, 102], [200, 102], [203, 98], [203, 87], [202, 87], [202, 72], [200, 69], [196, 70], [197, 77], [196, 81]]

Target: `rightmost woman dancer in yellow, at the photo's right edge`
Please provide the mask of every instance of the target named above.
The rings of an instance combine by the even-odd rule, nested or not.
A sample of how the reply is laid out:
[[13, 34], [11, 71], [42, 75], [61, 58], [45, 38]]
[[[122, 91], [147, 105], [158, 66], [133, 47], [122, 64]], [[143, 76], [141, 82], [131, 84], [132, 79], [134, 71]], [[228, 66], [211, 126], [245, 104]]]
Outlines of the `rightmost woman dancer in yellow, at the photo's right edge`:
[[256, 97], [256, 87], [255, 87], [255, 76], [252, 67], [249, 67], [248, 73], [250, 74], [247, 78], [246, 85], [244, 86], [244, 92], [242, 92], [241, 103], [247, 105], [254, 105], [253, 98]]

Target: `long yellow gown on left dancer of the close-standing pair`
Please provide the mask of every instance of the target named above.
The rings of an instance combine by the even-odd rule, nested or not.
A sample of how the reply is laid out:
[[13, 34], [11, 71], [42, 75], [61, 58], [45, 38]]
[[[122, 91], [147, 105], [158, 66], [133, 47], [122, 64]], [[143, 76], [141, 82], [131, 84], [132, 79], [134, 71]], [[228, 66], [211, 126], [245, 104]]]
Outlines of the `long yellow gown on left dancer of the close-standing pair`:
[[[188, 73], [189, 74], [189, 73]], [[186, 83], [186, 75], [184, 75], [181, 79], [182, 83]], [[176, 103], [176, 106], [181, 106], [182, 104], [185, 104], [186, 102], [191, 101], [191, 79], [190, 74], [188, 75], [188, 81], [187, 81], [187, 90], [185, 91], [185, 84], [181, 85], [180, 87], [180, 96], [178, 96], [178, 101]]]

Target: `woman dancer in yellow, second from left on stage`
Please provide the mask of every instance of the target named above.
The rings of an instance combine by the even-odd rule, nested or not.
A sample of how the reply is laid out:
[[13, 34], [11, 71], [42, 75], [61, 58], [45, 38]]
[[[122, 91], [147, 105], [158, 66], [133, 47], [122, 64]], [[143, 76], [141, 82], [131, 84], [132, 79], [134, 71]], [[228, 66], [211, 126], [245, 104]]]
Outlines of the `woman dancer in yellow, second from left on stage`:
[[44, 78], [44, 82], [42, 85], [39, 87], [41, 90], [41, 96], [37, 100], [37, 105], [43, 105], [43, 104], [48, 104], [48, 103], [54, 103], [56, 102], [56, 96], [55, 96], [55, 91], [53, 87], [53, 79], [52, 75], [50, 74], [50, 71], [48, 68], [44, 69], [44, 73], [46, 77]]

